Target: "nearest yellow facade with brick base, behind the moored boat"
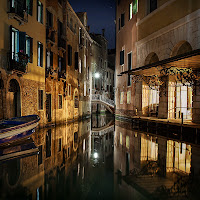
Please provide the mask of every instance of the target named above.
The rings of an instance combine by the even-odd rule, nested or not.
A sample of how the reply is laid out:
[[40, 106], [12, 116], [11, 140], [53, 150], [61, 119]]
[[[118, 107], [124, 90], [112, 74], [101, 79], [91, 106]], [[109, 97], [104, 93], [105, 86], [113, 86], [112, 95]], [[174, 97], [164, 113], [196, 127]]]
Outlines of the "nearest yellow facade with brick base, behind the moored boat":
[[1, 119], [38, 114], [44, 123], [45, 7], [44, 0], [0, 2]]

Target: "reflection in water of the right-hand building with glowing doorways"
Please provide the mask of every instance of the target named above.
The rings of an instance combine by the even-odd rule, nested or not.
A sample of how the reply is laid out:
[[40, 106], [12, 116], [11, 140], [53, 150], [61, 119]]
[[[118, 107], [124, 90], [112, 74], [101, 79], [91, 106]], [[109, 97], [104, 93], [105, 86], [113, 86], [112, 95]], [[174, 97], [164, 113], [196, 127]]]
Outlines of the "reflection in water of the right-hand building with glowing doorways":
[[131, 130], [130, 124], [120, 121], [116, 121], [114, 142], [114, 171], [119, 184], [124, 185], [121, 176], [130, 175], [127, 180], [137, 185], [139, 192], [156, 195], [156, 189], [164, 185], [169, 195], [179, 193], [175, 186], [185, 195], [193, 187], [189, 175], [200, 178], [196, 145]]

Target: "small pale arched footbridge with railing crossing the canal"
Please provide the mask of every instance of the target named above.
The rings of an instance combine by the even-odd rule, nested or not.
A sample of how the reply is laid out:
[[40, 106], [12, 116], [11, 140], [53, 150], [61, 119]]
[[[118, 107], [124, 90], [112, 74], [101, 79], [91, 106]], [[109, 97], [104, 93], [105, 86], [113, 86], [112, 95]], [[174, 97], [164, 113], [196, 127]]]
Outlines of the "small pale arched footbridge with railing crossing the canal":
[[103, 104], [111, 113], [115, 112], [115, 103], [113, 100], [106, 98], [104, 95], [101, 94], [93, 94], [92, 95], [92, 99], [91, 99], [92, 103], [99, 103], [99, 104]]

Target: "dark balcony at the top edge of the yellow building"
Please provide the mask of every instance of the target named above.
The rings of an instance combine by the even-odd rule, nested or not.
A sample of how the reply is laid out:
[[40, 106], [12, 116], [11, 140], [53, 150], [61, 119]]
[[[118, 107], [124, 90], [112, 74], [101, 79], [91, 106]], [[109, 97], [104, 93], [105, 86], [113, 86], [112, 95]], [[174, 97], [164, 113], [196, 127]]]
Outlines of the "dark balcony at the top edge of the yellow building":
[[28, 22], [28, 13], [24, 5], [24, 0], [10, 1], [8, 17], [16, 19], [20, 25]]

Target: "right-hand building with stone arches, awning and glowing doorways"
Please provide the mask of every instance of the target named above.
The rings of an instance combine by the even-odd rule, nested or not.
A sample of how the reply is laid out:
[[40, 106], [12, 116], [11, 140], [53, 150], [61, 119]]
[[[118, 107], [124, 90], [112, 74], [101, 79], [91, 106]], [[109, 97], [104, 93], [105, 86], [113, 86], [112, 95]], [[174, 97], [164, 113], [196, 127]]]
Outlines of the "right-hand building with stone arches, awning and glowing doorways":
[[183, 116], [199, 122], [199, 3], [142, 0], [127, 1], [125, 7], [125, 1], [118, 2], [116, 69], [122, 75], [117, 77], [119, 114], [165, 119]]

